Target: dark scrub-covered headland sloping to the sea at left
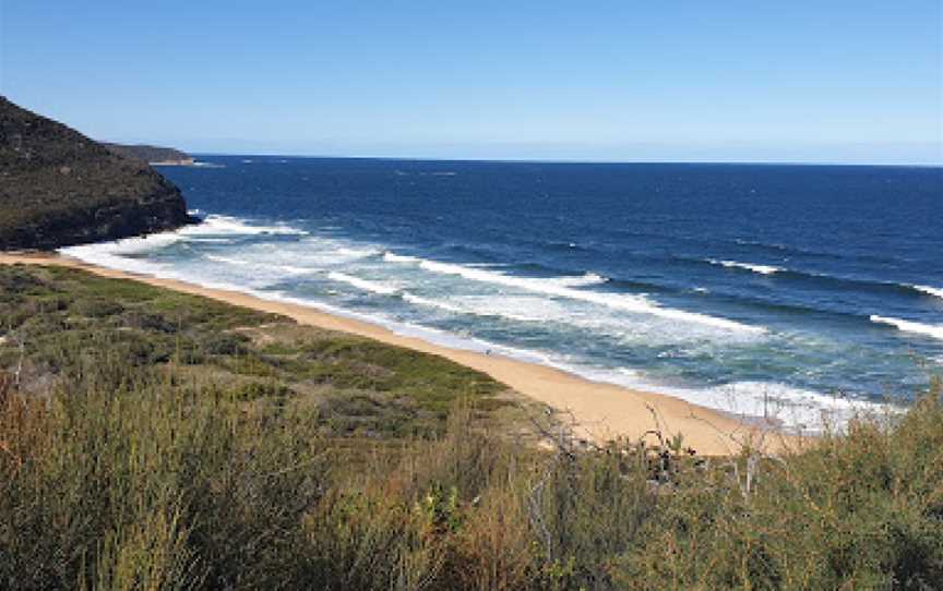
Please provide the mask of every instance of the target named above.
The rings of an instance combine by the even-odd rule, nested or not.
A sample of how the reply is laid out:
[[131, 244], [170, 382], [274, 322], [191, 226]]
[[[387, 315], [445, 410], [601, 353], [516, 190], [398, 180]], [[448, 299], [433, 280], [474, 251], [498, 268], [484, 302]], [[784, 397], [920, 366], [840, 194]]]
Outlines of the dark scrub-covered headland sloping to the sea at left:
[[0, 249], [55, 249], [191, 222], [180, 191], [0, 96]]

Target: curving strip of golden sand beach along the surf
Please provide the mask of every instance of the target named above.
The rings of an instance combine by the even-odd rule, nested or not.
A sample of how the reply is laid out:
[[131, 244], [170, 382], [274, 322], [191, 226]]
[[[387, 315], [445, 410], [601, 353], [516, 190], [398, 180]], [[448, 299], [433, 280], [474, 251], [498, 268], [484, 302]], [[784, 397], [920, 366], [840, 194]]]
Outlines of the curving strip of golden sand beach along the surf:
[[[298, 323], [341, 330], [444, 357], [484, 372], [520, 394], [569, 413], [577, 433], [601, 443], [614, 437], [637, 439], [660, 427], [666, 434], [681, 433], [683, 445], [699, 455], [736, 454], [743, 442], [752, 441], [776, 453], [799, 443], [796, 437], [739, 421], [735, 415], [691, 405], [656, 393], [640, 391], [592, 382], [552, 367], [497, 354], [451, 349], [418, 338], [397, 335], [381, 326], [331, 315], [303, 305], [273, 302], [254, 296], [211, 289], [172, 279], [124, 273], [56, 254], [0, 254], [0, 264], [58, 265], [84, 269], [104, 277], [132, 279], [152, 286], [203, 296], [235, 305], [283, 314]], [[657, 422], [656, 422], [657, 417]], [[654, 442], [648, 438], [646, 441]]]

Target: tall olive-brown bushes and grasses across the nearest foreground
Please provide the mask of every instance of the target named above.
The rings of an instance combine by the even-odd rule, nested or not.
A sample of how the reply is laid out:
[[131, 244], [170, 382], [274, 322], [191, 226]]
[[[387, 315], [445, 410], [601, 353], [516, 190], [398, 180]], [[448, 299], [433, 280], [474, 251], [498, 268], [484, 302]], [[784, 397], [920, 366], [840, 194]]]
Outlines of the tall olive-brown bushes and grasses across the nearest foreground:
[[[109, 376], [108, 381], [111, 384]], [[943, 400], [778, 460], [481, 432], [342, 459], [303, 410], [95, 375], [0, 409], [11, 589], [939, 589]], [[751, 475], [749, 487], [745, 474]]]

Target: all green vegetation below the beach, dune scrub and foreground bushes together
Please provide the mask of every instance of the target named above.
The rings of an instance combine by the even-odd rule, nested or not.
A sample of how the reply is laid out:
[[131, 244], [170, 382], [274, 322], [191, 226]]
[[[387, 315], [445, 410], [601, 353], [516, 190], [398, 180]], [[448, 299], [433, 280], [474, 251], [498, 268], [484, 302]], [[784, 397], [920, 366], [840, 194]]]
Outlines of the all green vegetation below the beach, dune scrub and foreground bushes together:
[[940, 589], [943, 398], [783, 457], [577, 445], [446, 360], [0, 267], [0, 587]]

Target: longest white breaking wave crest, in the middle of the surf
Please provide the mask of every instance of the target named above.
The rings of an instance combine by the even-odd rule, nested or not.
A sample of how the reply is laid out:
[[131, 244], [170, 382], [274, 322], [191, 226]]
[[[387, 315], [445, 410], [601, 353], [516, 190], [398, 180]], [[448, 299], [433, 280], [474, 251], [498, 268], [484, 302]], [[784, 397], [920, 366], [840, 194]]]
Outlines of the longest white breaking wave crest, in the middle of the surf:
[[[620, 293], [604, 293], [599, 291], [586, 291], [573, 289], [572, 287], [561, 286], [549, 282], [544, 279], [535, 279], [527, 277], [514, 277], [501, 273], [484, 270], [479, 268], [469, 268], [463, 265], [451, 263], [439, 263], [428, 260], [416, 260], [419, 267], [432, 273], [444, 275], [456, 275], [474, 281], [482, 281], [493, 285], [513, 287], [527, 291], [544, 293], [556, 298], [565, 298], [571, 300], [580, 300], [584, 302], [602, 305], [613, 310], [631, 312], [635, 314], [649, 314], [671, 321], [697, 323], [714, 328], [725, 330], [742, 330], [750, 333], [764, 333], [765, 329], [757, 326], [750, 326], [726, 318], [708, 316], [695, 312], [684, 312], [670, 307], [660, 307], [658, 304], [648, 301], [643, 296], [626, 296]], [[414, 262], [414, 261], [410, 261]]]

